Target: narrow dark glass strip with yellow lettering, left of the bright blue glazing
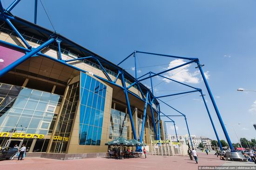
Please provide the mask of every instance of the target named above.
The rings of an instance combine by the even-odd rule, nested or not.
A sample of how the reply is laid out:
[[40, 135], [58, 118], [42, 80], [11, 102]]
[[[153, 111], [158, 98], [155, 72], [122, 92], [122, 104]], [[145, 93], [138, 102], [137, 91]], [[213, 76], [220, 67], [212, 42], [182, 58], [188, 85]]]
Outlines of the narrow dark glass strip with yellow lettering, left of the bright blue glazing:
[[[65, 153], [79, 100], [79, 82], [68, 85], [50, 152]], [[61, 140], [59, 140], [61, 138]]]

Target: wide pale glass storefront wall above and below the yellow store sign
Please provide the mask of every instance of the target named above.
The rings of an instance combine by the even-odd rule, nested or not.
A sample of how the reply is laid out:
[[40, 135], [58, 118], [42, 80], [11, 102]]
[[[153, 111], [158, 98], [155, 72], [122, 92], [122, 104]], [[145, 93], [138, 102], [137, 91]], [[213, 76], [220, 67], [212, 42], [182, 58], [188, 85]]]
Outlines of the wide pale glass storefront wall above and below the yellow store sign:
[[0, 132], [23, 134], [0, 137], [0, 146], [25, 144], [30, 152], [45, 152], [49, 137], [24, 138], [24, 134], [52, 135], [61, 101], [57, 94], [0, 83]]

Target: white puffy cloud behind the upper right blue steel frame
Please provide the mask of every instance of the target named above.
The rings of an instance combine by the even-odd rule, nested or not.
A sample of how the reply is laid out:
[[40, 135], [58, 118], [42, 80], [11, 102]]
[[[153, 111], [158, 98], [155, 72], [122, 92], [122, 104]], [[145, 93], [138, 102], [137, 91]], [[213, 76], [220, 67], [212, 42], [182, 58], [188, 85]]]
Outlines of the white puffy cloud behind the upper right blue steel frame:
[[[182, 65], [184, 63], [186, 63], [186, 62], [183, 59], [175, 59], [170, 62], [167, 69], [173, 68], [178, 65]], [[167, 74], [165, 76], [168, 78], [175, 79], [180, 82], [193, 83], [193, 84], [200, 83], [200, 81], [202, 79], [202, 77], [200, 75], [200, 71], [197, 70], [195, 72], [189, 72], [189, 67], [190, 67], [190, 65], [184, 65], [175, 70], [171, 70], [171, 71], [167, 72]], [[205, 75], [206, 79], [209, 79], [210, 75], [209, 75], [208, 71], [204, 72], [204, 75]], [[167, 83], [170, 82], [170, 80], [168, 80], [166, 78], [164, 78], [164, 80], [166, 80]]]

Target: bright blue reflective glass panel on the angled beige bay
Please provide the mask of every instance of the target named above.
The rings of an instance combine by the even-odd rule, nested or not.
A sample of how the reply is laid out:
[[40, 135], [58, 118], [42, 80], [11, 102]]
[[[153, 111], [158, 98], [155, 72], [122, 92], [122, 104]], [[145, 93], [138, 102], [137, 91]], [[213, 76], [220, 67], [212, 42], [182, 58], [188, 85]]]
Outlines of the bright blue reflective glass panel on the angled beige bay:
[[79, 144], [100, 145], [106, 85], [81, 73]]

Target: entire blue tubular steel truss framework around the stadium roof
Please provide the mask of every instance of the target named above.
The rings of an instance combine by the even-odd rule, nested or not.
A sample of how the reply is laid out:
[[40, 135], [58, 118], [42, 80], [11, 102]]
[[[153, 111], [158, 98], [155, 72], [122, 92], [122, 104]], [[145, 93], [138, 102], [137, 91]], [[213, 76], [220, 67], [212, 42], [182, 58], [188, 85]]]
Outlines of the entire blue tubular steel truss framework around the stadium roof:
[[[11, 65], [8, 65], [6, 68], [0, 70], [0, 77], [2, 77], [4, 74], [6, 74], [7, 72], [9, 72], [10, 70], [12, 70], [13, 68], [15, 68], [17, 65], [21, 64], [23, 61], [25, 61], [26, 59], [29, 59], [30, 57], [32, 56], [42, 56], [42, 57], [45, 57], [45, 58], [48, 58], [48, 59], [52, 59], [53, 61], [56, 61], [56, 62], [59, 62], [63, 65], [67, 65], [73, 69], [76, 69], [78, 71], [81, 71], [81, 72], [87, 72], [83, 69], [80, 69], [78, 67], [75, 67], [73, 65], [70, 65], [68, 64], [68, 62], [70, 61], [75, 61], [75, 60], [82, 60], [82, 59], [88, 59], [88, 58], [92, 58], [94, 59], [101, 67], [101, 70], [102, 72], [106, 75], [107, 78], [102, 78], [102, 77], [99, 77], [97, 75], [94, 75], [94, 77], [96, 78], [99, 78], [101, 79], [102, 81], [105, 81], [111, 85], [115, 85], [119, 88], [121, 88], [123, 91], [124, 91], [124, 94], [125, 94], [125, 97], [126, 97], [126, 102], [127, 102], [127, 107], [128, 107], [128, 114], [130, 116], [130, 122], [131, 122], [131, 126], [132, 126], [132, 131], [133, 131], [133, 136], [134, 138], [137, 140], [137, 135], [136, 135], [136, 131], [135, 131], [135, 126], [134, 126], [134, 122], [133, 122], [133, 119], [132, 119], [132, 112], [131, 112], [131, 108], [130, 108], [130, 104], [129, 104], [129, 97], [128, 97], [128, 94], [134, 96], [135, 98], [138, 98], [139, 100], [145, 102], [145, 107], [144, 107], [144, 112], [143, 112], [143, 126], [141, 128], [141, 138], [140, 138], [140, 141], [142, 141], [142, 138], [143, 138], [143, 131], [144, 131], [144, 124], [145, 124], [145, 118], [146, 118], [146, 110], [147, 110], [147, 105], [150, 106], [150, 110], [151, 110], [151, 116], [152, 116], [152, 119], [155, 120], [155, 115], [154, 115], [154, 111], [157, 113], [157, 128], [156, 128], [156, 124], [155, 124], [155, 121], [153, 121], [153, 126], [154, 126], [154, 131], [155, 131], [155, 135], [156, 135], [156, 139], [157, 140], [160, 140], [160, 114], [161, 114], [161, 111], [160, 111], [160, 104], [158, 102], [158, 100], [160, 100], [159, 98], [163, 98], [163, 97], [168, 97], [168, 96], [174, 96], [174, 95], [180, 95], [180, 94], [185, 94], [185, 93], [190, 93], [190, 92], [200, 92], [201, 93], [201, 96], [202, 96], [202, 99], [204, 101], [204, 104], [205, 104], [205, 107], [207, 109], [207, 112], [209, 114], [209, 118], [210, 118], [210, 121], [211, 121], [211, 124], [213, 126], [213, 129], [215, 131], [215, 134], [216, 134], [216, 137], [217, 137], [217, 140], [220, 144], [220, 140], [219, 140], [219, 137], [217, 135], [217, 132], [216, 132], [216, 129], [215, 129], [215, 126], [214, 126], [214, 123], [213, 123], [213, 120], [210, 116], [210, 113], [209, 113], [209, 109], [208, 109], [208, 106], [205, 102], [205, 99], [204, 99], [204, 95], [202, 93], [202, 90], [201, 89], [198, 89], [198, 88], [195, 88], [195, 87], [192, 87], [190, 85], [186, 85], [184, 83], [181, 83], [181, 82], [178, 82], [176, 80], [173, 80], [171, 78], [167, 78], [171, 81], [174, 81], [174, 82], [177, 82], [179, 84], [182, 84], [182, 85], [186, 85], [186, 86], [189, 86], [195, 90], [193, 91], [188, 91], [188, 92], [181, 92], [181, 93], [176, 93], [176, 94], [169, 94], [169, 95], [165, 95], [165, 96], [158, 96], [158, 97], [155, 97], [154, 96], [154, 89], [153, 89], [153, 85], [152, 85], [152, 78], [155, 77], [155, 76], [161, 76], [163, 78], [166, 78], [164, 76], [162, 76], [161, 74], [165, 73], [165, 72], [169, 72], [171, 70], [174, 70], [174, 69], [177, 69], [177, 68], [180, 68], [184, 65], [189, 65], [191, 63], [195, 63], [197, 64], [197, 68], [199, 69], [201, 75], [202, 75], [202, 79], [204, 81], [204, 84], [206, 86], [206, 89], [209, 93], [209, 97], [211, 99], [211, 102], [214, 106], [214, 109], [216, 111], [216, 114], [217, 114], [217, 117], [219, 119], [219, 122], [221, 124], [221, 127], [222, 127], [222, 130], [223, 130], [223, 133], [227, 139], [227, 142], [229, 144], [229, 148], [231, 150], [233, 150], [233, 146], [232, 146], [232, 143], [229, 139], [229, 135], [228, 135], [228, 132], [225, 128], [225, 125], [222, 121], [222, 117], [220, 115], [220, 112], [218, 110], [218, 107], [216, 105], [216, 102], [215, 102], [215, 99], [212, 95], [212, 92], [209, 88], [209, 85], [208, 85], [208, 82], [207, 82], [207, 79], [205, 78], [204, 76], [204, 72], [202, 70], [202, 66], [199, 62], [199, 59], [198, 58], [188, 58], [188, 57], [180, 57], [180, 56], [172, 56], [172, 55], [165, 55], [165, 54], [158, 54], [158, 53], [151, 53], [151, 52], [141, 52], [141, 51], [134, 51], [132, 52], [130, 55], [128, 55], [128, 57], [126, 57], [125, 59], [123, 59], [119, 64], [117, 65], [114, 65], [112, 64], [111, 62], [109, 61], [106, 61], [106, 60], [103, 60], [101, 57], [95, 55], [94, 53], [92, 52], [88, 52], [88, 51], [85, 51], [85, 49], [81, 48], [81, 46], [78, 46], [76, 44], [74, 44], [73, 42], [71, 41], [67, 41], [67, 39], [63, 39], [61, 36], [59, 36], [59, 34], [57, 33], [52, 33], [51, 36], [49, 37], [49, 39], [44, 42], [43, 44], [41, 44], [40, 46], [38, 46], [37, 48], [32, 48], [28, 42], [26, 41], [26, 39], [24, 39], [24, 37], [22, 36], [22, 34], [20, 34], [19, 30], [13, 25], [12, 21], [15, 21], [15, 22], [18, 22], [20, 24], [23, 24], [25, 26], [29, 26], [33, 29], [36, 29], [38, 31], [41, 31], [43, 33], [49, 33], [49, 31], [45, 30], [45, 29], [42, 29], [41, 27], [39, 26], [35, 26], [34, 24], [37, 23], [37, 0], [35, 0], [35, 4], [34, 4], [34, 24], [32, 23], [28, 23], [28, 22], [25, 22], [24, 20], [19, 20], [17, 19], [16, 17], [14, 17], [10, 12], [11, 10], [20, 2], [20, 0], [14, 0], [13, 3], [11, 3], [11, 5], [9, 7], [7, 7], [7, 9], [4, 9], [3, 6], [2, 6], [2, 3], [1, 3], [1, 0], [0, 0], [0, 20], [2, 21], [5, 21], [12, 29], [13, 31], [17, 34], [17, 36], [21, 39], [21, 41], [25, 44], [25, 46], [27, 48], [24, 48], [24, 47], [21, 47], [21, 46], [16, 46], [16, 45], [13, 45], [11, 43], [8, 43], [8, 42], [5, 42], [5, 41], [2, 41], [0, 40], [0, 44], [4, 44], [4, 45], [7, 45], [7, 46], [11, 46], [13, 48], [16, 48], [16, 49], [19, 49], [23, 52], [26, 52], [26, 54], [21, 57], [20, 59], [16, 60], [15, 62], [13, 62], [13, 64]], [[68, 45], [70, 46], [73, 46], [81, 51], [84, 51], [84, 52], [87, 52], [90, 54], [89, 57], [80, 57], [78, 59], [69, 59], [69, 60], [62, 60], [61, 58], [61, 42], [62, 41], [65, 41], [65, 43], [67, 43]], [[40, 51], [42, 49], [44, 49], [45, 47], [49, 46], [50, 44], [56, 42], [58, 44], [58, 54], [59, 54], [59, 59], [54, 59], [53, 57], [50, 57], [46, 54], [43, 54], [41, 53]], [[144, 53], [144, 54], [148, 54], [148, 55], [157, 55], [157, 56], [163, 56], [163, 57], [169, 57], [169, 58], [176, 58], [176, 59], [186, 59], [186, 60], [189, 60], [187, 63], [184, 63], [182, 65], [178, 65], [178, 66], [175, 66], [173, 68], [170, 68], [168, 70], [165, 70], [165, 71], [162, 71], [162, 72], [158, 72], [158, 73], [153, 73], [153, 72], [148, 72], [147, 74], [144, 74], [143, 76], [139, 77], [137, 76], [137, 53]], [[131, 75], [129, 75], [127, 72], [125, 72], [121, 67], [119, 67], [118, 65], [120, 65], [121, 63], [123, 63], [126, 59], [128, 59], [129, 57], [133, 56], [135, 58], [135, 78], [133, 78]], [[118, 70], [118, 74], [115, 78], [115, 80], [113, 81], [108, 72], [106, 71], [106, 69], [103, 67], [103, 65], [101, 64], [101, 62], [107, 62], [108, 65], [111, 65], [113, 66], [114, 68], [116, 68]], [[148, 77], [145, 77], [146, 75], [148, 75]], [[125, 77], [128, 77], [128, 78], [131, 78], [134, 80], [134, 82], [129, 85], [128, 87], [126, 87], [126, 84], [125, 84]], [[121, 82], [122, 82], [122, 85], [118, 85], [116, 84], [116, 81], [117, 79], [120, 78], [121, 79]], [[141, 81], [143, 80], [146, 80], [146, 79], [150, 79], [151, 80], [151, 91], [148, 89], [147, 92], [146, 92], [146, 95], [145, 93], [141, 90]], [[129, 91], [128, 89], [132, 86], [136, 85], [138, 87], [138, 90], [140, 91], [141, 93], [141, 97], [131, 91]], [[162, 100], [160, 100], [162, 101]], [[163, 102], [164, 104], [166, 104], [165, 102]], [[153, 107], [153, 104], [155, 104], [156, 106], [156, 109]], [[168, 105], [168, 104], [166, 104]], [[170, 105], [168, 105], [169, 107], [171, 107]], [[171, 107], [173, 108], [173, 107]], [[174, 108], [173, 108], [174, 109]], [[174, 109], [175, 111], [177, 111], [176, 109]], [[178, 111], [179, 113], [181, 113], [180, 111]], [[185, 121], [186, 121], [186, 125], [187, 125], [187, 128], [188, 128], [188, 131], [189, 131], [189, 127], [188, 127], [188, 124], [187, 124], [187, 118], [186, 118], [186, 115], [181, 113], [184, 118], [185, 118]], [[169, 117], [168, 115], [165, 115], [167, 118]], [[170, 115], [170, 116], [173, 116], [173, 115]], [[170, 119], [170, 118], [169, 118]], [[172, 120], [173, 121], [173, 120]], [[173, 121], [173, 123], [175, 124], [175, 122]], [[175, 133], [176, 133], [176, 130], [175, 130]], [[189, 133], [189, 137], [190, 137], [190, 133]], [[191, 141], [191, 139], [190, 139]], [[191, 143], [191, 146], [192, 146], [192, 143]], [[222, 149], [222, 146], [220, 144], [220, 147]]]

